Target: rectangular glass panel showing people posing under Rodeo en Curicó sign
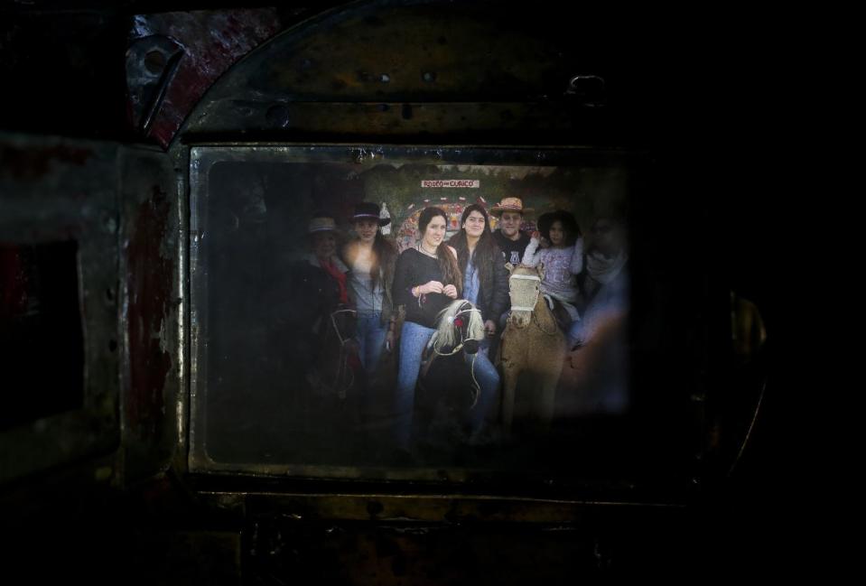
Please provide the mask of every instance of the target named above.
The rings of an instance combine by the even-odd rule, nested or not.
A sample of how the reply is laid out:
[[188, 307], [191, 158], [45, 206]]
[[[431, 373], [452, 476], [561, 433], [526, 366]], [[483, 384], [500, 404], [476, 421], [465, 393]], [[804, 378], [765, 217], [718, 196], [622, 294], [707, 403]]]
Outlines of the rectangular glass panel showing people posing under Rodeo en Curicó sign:
[[194, 469], [571, 474], [633, 447], [626, 154], [194, 147], [191, 185]]

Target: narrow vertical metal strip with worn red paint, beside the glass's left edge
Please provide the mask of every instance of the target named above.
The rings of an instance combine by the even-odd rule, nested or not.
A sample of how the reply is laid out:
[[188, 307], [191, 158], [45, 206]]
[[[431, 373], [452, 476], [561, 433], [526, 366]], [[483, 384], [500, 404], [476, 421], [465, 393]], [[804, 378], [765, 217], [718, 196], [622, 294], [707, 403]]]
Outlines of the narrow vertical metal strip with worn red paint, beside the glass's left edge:
[[118, 159], [123, 212], [121, 325], [126, 337], [121, 376], [128, 479], [168, 465], [178, 449], [174, 425], [181, 294], [176, 265], [175, 172], [159, 151], [126, 148]]

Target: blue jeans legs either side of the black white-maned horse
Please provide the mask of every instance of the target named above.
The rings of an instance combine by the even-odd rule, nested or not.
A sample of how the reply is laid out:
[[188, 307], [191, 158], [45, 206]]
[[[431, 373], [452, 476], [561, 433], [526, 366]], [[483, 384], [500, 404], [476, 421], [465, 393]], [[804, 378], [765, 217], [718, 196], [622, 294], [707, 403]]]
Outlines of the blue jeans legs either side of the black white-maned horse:
[[[396, 442], [398, 447], [404, 449], [408, 448], [412, 437], [415, 385], [418, 382], [418, 371], [421, 369], [421, 358], [433, 333], [435, 330], [432, 328], [426, 328], [414, 321], [403, 322], [403, 330], [400, 334], [400, 368], [397, 374]], [[472, 432], [478, 432], [496, 405], [499, 373], [486, 353], [463, 354], [463, 360], [467, 365], [473, 364], [473, 358], [472, 372], [480, 390], [478, 401], [470, 412], [470, 426]]]

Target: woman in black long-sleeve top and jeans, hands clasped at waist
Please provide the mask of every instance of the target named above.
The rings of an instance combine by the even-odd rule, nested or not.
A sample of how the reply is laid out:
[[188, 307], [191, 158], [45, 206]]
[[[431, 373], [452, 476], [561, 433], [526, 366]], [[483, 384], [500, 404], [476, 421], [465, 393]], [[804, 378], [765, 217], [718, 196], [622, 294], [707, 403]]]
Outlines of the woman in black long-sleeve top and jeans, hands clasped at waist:
[[405, 306], [397, 374], [396, 441], [408, 447], [412, 434], [414, 390], [424, 347], [436, 327], [436, 316], [460, 296], [462, 278], [457, 253], [444, 243], [448, 218], [440, 208], [426, 208], [418, 219], [421, 241], [397, 258], [393, 297]]

